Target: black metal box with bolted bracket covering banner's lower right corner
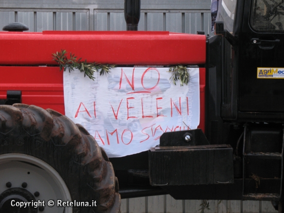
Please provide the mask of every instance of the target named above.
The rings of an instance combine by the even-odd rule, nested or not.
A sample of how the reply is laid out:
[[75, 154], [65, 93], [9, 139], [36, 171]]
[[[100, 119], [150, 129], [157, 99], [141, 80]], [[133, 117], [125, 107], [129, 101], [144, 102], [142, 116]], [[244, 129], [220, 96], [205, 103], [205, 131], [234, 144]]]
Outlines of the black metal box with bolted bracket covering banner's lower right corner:
[[201, 129], [167, 132], [149, 150], [153, 186], [233, 183], [233, 149], [210, 145]]

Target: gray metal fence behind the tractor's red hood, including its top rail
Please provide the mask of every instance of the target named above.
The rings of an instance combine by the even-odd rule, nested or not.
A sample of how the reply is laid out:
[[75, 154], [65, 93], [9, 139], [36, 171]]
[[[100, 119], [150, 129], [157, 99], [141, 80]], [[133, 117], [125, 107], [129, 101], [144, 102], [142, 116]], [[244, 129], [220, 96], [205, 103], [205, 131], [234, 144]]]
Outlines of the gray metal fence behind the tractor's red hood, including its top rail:
[[[109, 4], [107, 4], [107, 2]], [[67, 8], [68, 7], [68, 8]], [[139, 30], [210, 33], [210, 0], [142, 0]], [[124, 31], [124, 0], [2, 0], [0, 30], [8, 23], [22, 22], [31, 32], [43, 30]]]

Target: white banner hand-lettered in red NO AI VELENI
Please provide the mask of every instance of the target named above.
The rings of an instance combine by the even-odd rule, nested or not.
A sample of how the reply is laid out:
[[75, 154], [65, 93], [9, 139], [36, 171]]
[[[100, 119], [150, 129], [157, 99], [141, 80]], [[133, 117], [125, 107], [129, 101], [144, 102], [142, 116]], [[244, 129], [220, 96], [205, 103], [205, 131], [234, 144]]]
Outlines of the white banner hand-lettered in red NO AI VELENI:
[[199, 124], [199, 69], [174, 85], [169, 68], [122, 68], [92, 81], [78, 70], [64, 72], [65, 114], [82, 124], [108, 157], [146, 151], [163, 132]]

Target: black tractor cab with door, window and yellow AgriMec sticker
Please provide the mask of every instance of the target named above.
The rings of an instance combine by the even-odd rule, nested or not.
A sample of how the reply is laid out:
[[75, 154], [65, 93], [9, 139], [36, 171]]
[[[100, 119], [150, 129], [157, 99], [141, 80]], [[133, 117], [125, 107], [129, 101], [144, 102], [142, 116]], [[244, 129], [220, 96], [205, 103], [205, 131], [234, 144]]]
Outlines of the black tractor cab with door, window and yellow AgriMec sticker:
[[[276, 209], [282, 203], [283, 9], [283, 1], [275, 0], [218, 2], [215, 35], [207, 36], [205, 65], [205, 135], [210, 146], [199, 148], [208, 153], [210, 148], [219, 148], [226, 160], [215, 158], [211, 165], [210, 154], [193, 151], [199, 161], [193, 159], [191, 172], [200, 181], [213, 178], [208, 173], [218, 177], [219, 167], [222, 177], [213, 178], [210, 184], [161, 186], [175, 198], [271, 200]], [[225, 150], [230, 147], [214, 144], [230, 145], [233, 151], [228, 153]], [[216, 157], [216, 153], [212, 155]], [[231, 165], [225, 163], [229, 161]], [[201, 171], [203, 167], [207, 169]], [[181, 193], [184, 187], [185, 193]]]

